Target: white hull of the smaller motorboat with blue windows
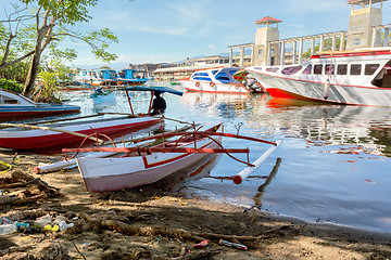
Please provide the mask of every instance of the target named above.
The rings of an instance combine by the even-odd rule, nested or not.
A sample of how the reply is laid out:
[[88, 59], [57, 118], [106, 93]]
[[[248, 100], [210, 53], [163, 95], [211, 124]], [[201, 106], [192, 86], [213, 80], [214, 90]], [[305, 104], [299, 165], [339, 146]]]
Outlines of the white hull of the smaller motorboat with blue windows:
[[187, 91], [205, 93], [249, 94], [250, 91], [240, 83], [219, 83], [211, 81], [180, 80]]

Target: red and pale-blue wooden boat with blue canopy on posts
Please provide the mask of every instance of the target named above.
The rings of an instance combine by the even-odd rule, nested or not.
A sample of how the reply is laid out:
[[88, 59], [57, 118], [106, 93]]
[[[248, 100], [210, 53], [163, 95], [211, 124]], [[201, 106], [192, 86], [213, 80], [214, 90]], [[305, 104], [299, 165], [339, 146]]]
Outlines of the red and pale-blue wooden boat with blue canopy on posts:
[[121, 115], [106, 113], [66, 120], [59, 119], [46, 121], [48, 125], [39, 125], [42, 122], [24, 125], [0, 123], [0, 127], [8, 127], [0, 130], [0, 147], [14, 150], [42, 148], [72, 143], [91, 133], [99, 132], [102, 134], [110, 134], [124, 130], [150, 127], [163, 121], [163, 117], [150, 116], [152, 99], [148, 114], [146, 116], [137, 116], [131, 107], [128, 91], [150, 91], [153, 96], [156, 89], [162, 92], [171, 92], [177, 95], [182, 94], [180, 91], [160, 87], [123, 89], [127, 93], [131, 114]]

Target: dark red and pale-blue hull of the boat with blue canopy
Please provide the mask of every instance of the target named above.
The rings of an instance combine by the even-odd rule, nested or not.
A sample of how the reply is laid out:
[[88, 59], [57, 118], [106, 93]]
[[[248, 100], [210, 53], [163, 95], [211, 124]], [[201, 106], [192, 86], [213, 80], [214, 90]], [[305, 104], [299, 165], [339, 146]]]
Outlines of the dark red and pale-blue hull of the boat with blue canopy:
[[[117, 118], [113, 120], [97, 120], [92, 122], [80, 122], [55, 128], [83, 134], [91, 134], [94, 132], [111, 134], [124, 130], [147, 128], [162, 120], [162, 118], [154, 117]], [[0, 146], [14, 150], [43, 148], [81, 141], [84, 138], [70, 133], [54, 132], [50, 130], [0, 130]]]

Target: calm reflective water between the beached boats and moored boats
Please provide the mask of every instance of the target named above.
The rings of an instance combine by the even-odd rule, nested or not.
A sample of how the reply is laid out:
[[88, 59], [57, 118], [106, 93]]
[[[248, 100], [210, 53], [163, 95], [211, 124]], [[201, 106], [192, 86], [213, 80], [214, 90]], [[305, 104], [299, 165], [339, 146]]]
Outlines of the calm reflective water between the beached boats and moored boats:
[[[93, 103], [81, 92], [64, 93], [83, 114], [129, 112], [124, 93]], [[88, 95], [87, 95], [88, 96]], [[144, 113], [149, 94], [134, 93], [134, 109]], [[242, 184], [224, 177], [243, 169], [218, 156], [203, 178], [181, 185], [191, 196], [367, 230], [391, 232], [391, 108], [313, 106], [275, 103], [267, 94], [164, 94], [165, 116], [205, 126], [224, 122], [225, 131], [281, 139], [282, 145]], [[174, 122], [167, 121], [166, 128]], [[251, 160], [267, 145], [226, 140], [226, 147], [249, 147]], [[268, 178], [267, 178], [268, 177]], [[267, 178], [267, 179], [265, 179]]]

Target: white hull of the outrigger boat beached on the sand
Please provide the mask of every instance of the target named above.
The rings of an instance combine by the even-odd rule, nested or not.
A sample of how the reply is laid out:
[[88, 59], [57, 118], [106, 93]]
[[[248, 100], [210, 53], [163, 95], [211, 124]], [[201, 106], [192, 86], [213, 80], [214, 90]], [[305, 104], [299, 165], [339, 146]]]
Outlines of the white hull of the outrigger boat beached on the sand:
[[[220, 143], [220, 138], [217, 141]], [[197, 144], [203, 148], [218, 146], [209, 139], [200, 140]], [[122, 158], [79, 158], [76, 161], [87, 190], [99, 193], [154, 183], [206, 156], [210, 155], [162, 153]]]

